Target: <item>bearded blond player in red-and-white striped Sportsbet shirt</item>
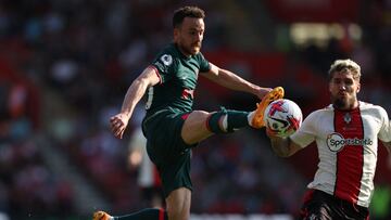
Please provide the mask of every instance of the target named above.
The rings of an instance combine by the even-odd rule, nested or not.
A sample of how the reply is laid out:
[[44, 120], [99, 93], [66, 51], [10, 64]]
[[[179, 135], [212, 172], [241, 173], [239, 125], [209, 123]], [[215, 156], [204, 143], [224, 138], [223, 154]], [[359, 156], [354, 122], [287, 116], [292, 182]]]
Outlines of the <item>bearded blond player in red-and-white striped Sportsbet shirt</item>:
[[329, 69], [331, 104], [310, 114], [301, 128], [281, 139], [267, 132], [274, 152], [288, 157], [316, 142], [318, 169], [301, 219], [368, 219], [374, 193], [378, 139], [391, 161], [391, 125], [378, 105], [357, 100], [361, 68], [351, 60], [337, 60]]

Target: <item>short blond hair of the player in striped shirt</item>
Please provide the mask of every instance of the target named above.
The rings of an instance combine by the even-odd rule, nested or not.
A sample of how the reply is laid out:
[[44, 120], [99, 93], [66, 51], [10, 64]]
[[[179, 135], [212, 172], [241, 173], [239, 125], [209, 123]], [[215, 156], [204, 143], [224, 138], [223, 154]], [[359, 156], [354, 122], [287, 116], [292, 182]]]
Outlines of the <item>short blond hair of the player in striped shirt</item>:
[[346, 59], [346, 60], [336, 60], [328, 72], [329, 80], [332, 79], [335, 73], [345, 73], [351, 72], [353, 75], [353, 78], [356, 80], [360, 80], [361, 78], [361, 67], [357, 63], [354, 61]]

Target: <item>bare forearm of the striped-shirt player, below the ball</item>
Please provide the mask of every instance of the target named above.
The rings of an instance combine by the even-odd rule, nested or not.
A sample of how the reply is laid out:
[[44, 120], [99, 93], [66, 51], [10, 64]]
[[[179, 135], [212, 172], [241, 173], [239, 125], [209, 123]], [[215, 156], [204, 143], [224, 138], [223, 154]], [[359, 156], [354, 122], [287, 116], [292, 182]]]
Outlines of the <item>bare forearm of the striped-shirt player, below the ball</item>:
[[269, 135], [272, 148], [280, 157], [290, 157], [295, 154], [301, 147], [295, 144], [290, 138], [279, 138]]

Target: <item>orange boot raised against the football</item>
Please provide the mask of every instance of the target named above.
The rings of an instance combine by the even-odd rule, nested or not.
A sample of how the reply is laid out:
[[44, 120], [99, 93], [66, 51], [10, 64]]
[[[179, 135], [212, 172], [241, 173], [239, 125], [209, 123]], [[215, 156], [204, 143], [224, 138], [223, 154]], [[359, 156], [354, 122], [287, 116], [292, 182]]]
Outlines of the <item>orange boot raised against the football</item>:
[[254, 112], [254, 117], [251, 121], [251, 126], [253, 128], [262, 128], [265, 126], [263, 117], [265, 109], [268, 104], [270, 104], [275, 100], [279, 100], [283, 98], [283, 88], [282, 87], [276, 87], [272, 91], [269, 91], [262, 101], [256, 104], [256, 109]]

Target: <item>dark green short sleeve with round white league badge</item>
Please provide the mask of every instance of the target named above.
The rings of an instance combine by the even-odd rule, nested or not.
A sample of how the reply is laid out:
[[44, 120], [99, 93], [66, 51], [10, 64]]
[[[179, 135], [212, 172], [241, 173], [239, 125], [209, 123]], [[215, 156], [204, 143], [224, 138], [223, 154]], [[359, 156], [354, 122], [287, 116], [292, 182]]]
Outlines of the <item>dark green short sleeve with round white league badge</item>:
[[152, 66], [157, 69], [159, 77], [161, 78], [161, 82], [163, 83], [174, 77], [177, 65], [176, 60], [173, 57], [173, 55], [164, 53], [162, 55], [159, 55], [153, 61]]

